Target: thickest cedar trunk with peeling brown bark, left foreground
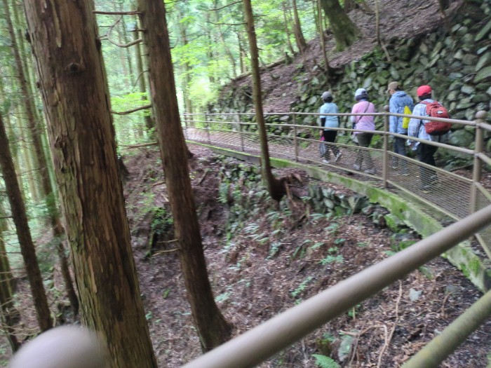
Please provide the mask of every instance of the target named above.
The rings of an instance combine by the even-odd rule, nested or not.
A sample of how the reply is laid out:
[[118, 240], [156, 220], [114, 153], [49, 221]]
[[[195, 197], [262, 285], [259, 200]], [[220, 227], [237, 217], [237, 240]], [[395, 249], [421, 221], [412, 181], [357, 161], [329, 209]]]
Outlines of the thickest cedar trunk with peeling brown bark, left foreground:
[[110, 367], [156, 367], [116, 160], [93, 1], [26, 0], [83, 322]]

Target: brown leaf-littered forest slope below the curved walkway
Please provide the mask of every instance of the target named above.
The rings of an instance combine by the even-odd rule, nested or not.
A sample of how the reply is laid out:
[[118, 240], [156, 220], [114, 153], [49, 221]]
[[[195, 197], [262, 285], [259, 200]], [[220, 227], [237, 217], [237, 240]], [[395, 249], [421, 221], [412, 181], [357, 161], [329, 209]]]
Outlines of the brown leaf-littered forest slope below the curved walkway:
[[[190, 149], [210, 280], [217, 304], [234, 325], [234, 336], [394, 254], [394, 233], [370, 217], [322, 217], [302, 200], [290, 203], [295, 208], [291, 214], [274, 210], [274, 205], [271, 209], [270, 203], [251, 212], [248, 226], [227, 230], [229, 209], [217, 200], [223, 163], [202, 146], [190, 145]], [[168, 206], [159, 154], [156, 149], [142, 149], [128, 156], [126, 166], [128, 218], [154, 349], [159, 367], [180, 367], [201, 355], [201, 349], [177, 254], [170, 245], [149, 249], [152, 207]], [[302, 170], [276, 173], [292, 172], [302, 177], [297, 190], [314, 183], [351, 194], [341, 186], [309, 179]], [[405, 239], [419, 236], [409, 231]], [[314, 354], [330, 355], [342, 367], [349, 362], [351, 367], [399, 367], [480, 296], [462, 273], [438, 258], [260, 367], [315, 367]], [[348, 347], [344, 352], [341, 344]], [[491, 321], [487, 321], [441, 367], [486, 367], [490, 351]]]

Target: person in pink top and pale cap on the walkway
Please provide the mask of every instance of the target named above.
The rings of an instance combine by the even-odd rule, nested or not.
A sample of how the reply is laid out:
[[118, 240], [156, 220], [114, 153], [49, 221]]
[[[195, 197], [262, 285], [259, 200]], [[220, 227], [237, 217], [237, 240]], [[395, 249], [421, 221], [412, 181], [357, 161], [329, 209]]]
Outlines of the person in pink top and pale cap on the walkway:
[[[358, 88], [355, 92], [355, 100], [353, 109], [351, 109], [351, 114], [360, 113], [370, 113], [375, 112], [375, 105], [368, 101], [368, 93], [365, 88]], [[375, 130], [374, 116], [351, 116], [351, 123], [353, 123], [353, 129], [361, 130]], [[368, 132], [353, 132], [354, 141], [360, 147], [370, 146], [372, 142], [373, 133]], [[356, 155], [356, 161], [353, 165], [355, 170], [362, 170], [362, 165], [365, 163], [365, 172], [367, 174], [374, 174], [375, 170], [373, 168], [372, 157], [370, 152], [366, 149], [358, 149], [358, 154]]]

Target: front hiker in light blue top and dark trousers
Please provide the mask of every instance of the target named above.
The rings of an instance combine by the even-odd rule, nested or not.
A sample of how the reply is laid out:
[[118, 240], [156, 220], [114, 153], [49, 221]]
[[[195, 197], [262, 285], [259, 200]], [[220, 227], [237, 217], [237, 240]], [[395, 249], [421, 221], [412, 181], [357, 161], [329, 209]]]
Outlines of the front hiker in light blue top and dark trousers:
[[[319, 114], [338, 113], [337, 105], [332, 102], [332, 94], [330, 92], [324, 92], [321, 98], [324, 104], [321, 106], [321, 109], [319, 109]], [[321, 126], [324, 128], [339, 128], [339, 116], [321, 115]], [[341, 157], [341, 151], [339, 151], [339, 148], [335, 144], [332, 144], [336, 140], [337, 130], [324, 129], [322, 131], [322, 135], [324, 137], [324, 142], [326, 142], [324, 159], [322, 162], [330, 163], [330, 151], [332, 151], [332, 154], [334, 155], [332, 163], [335, 163], [337, 160], [339, 160], [339, 157]]]

